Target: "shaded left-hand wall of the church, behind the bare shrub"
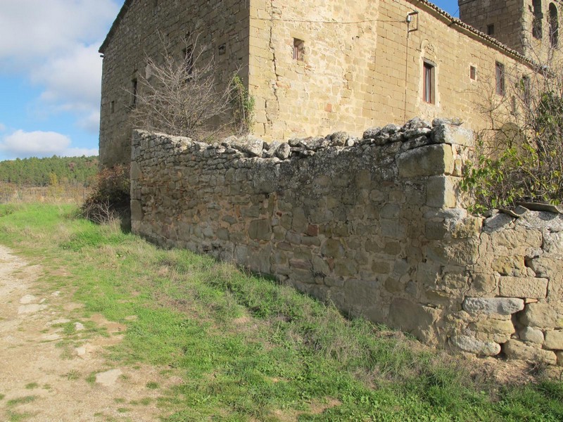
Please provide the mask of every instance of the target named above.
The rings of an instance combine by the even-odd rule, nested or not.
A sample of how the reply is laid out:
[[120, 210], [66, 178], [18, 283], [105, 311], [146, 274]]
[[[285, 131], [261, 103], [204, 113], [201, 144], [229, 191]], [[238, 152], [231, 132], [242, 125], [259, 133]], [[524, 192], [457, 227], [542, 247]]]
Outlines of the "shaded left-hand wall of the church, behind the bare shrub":
[[[127, 0], [104, 41], [101, 89], [100, 163], [129, 163], [133, 81], [146, 76], [147, 58], [158, 62], [163, 46], [179, 63], [186, 39], [205, 48], [201, 60], [215, 60], [217, 83], [248, 72], [248, 0]], [[221, 49], [220, 49], [221, 47]], [[150, 80], [150, 79], [149, 79]], [[139, 87], [140, 89], [140, 87]]]

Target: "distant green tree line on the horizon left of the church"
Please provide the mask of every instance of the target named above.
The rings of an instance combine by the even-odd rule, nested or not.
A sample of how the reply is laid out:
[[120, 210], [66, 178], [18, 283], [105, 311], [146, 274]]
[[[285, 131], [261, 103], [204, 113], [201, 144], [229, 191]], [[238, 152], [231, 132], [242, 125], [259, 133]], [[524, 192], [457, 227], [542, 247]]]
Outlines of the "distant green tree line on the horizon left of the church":
[[98, 157], [17, 158], [0, 161], [0, 181], [32, 186], [91, 184], [98, 172]]

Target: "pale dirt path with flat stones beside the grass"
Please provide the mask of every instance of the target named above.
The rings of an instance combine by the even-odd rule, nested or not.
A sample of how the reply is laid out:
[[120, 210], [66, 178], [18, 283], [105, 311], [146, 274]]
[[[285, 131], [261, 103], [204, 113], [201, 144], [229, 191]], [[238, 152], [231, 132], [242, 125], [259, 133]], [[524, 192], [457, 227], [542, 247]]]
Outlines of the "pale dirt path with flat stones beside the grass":
[[0, 245], [0, 421], [158, 421], [158, 369], [103, 358], [125, 326], [100, 315], [80, 321], [81, 305], [46, 292], [42, 272]]

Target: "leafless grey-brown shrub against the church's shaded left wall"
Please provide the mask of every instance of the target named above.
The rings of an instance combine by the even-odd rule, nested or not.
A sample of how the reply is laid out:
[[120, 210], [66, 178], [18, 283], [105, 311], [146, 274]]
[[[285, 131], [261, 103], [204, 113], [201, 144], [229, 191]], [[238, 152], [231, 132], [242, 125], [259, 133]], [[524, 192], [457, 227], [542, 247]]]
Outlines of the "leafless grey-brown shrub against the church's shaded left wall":
[[236, 72], [228, 82], [218, 82], [221, 70], [213, 51], [201, 45], [198, 37], [184, 39], [181, 51], [162, 35], [160, 40], [160, 56], [147, 56], [145, 75], [139, 75], [132, 93], [137, 127], [199, 140], [227, 128], [233, 132]]

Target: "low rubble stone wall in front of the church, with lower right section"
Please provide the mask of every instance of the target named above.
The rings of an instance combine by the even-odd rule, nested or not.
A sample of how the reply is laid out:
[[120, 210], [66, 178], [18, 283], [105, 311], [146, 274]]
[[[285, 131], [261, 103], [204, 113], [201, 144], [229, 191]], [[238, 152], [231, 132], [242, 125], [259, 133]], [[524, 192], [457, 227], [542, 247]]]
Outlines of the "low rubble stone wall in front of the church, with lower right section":
[[135, 132], [133, 231], [431, 345], [561, 363], [563, 221], [468, 215], [457, 183], [472, 133], [451, 123], [270, 144]]

